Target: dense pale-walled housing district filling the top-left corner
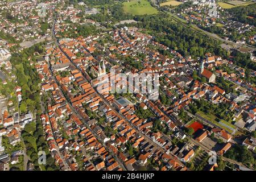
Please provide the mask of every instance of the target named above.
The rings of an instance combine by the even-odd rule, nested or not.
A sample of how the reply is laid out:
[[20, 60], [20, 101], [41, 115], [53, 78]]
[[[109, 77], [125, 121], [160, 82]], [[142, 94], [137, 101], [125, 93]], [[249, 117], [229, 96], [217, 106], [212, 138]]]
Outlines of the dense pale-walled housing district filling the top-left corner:
[[[48, 1], [44, 3], [48, 18], [47, 23], [52, 22], [52, 7], [59, 0]], [[40, 34], [40, 23], [42, 18], [37, 14], [41, 7], [40, 1], [2, 1], [0, 2], [0, 31], [13, 37], [16, 42], [24, 42], [42, 38], [49, 35], [50, 30], [45, 35]], [[36, 13], [35, 13], [36, 12]], [[16, 44], [6, 42], [7, 47], [13, 47]]]

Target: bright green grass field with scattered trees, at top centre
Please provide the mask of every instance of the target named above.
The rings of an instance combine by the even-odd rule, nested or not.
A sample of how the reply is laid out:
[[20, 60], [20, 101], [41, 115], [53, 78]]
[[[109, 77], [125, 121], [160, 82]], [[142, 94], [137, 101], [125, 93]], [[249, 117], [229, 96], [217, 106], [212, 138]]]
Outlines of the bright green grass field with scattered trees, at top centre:
[[157, 14], [158, 10], [146, 0], [133, 0], [123, 3], [123, 11], [133, 15]]

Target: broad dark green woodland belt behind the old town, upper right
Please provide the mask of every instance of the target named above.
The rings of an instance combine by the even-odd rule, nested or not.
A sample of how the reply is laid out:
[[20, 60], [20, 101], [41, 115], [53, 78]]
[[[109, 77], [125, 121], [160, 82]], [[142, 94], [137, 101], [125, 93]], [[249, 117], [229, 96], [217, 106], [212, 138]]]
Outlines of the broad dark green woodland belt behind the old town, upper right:
[[135, 20], [139, 21], [139, 28], [155, 31], [157, 42], [180, 52], [183, 56], [204, 57], [205, 53], [212, 52], [228, 58], [228, 52], [220, 47], [220, 42], [172, 22], [167, 14], [137, 16]]

